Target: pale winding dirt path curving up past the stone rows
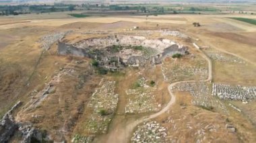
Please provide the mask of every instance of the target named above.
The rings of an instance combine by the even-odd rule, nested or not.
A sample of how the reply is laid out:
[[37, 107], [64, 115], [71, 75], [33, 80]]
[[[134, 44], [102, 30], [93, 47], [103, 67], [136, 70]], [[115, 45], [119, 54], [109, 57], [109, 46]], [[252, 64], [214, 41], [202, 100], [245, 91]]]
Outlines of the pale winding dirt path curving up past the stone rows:
[[[199, 49], [197, 49], [199, 50]], [[204, 52], [202, 52], [201, 50], [199, 50], [200, 55], [203, 56], [203, 58], [205, 58], [205, 60], [207, 60], [208, 62], [208, 79], [204, 80], [205, 82], [212, 82], [212, 60], [206, 56], [206, 54]], [[193, 83], [193, 82], [198, 82], [198, 81], [179, 81], [176, 83], [172, 83], [168, 86], [168, 92], [170, 93], [170, 101], [168, 102], [168, 104], [159, 112], [154, 113], [152, 115], [146, 116], [146, 117], [140, 117], [139, 119], [135, 120], [135, 119], [131, 119], [128, 120], [127, 122], [125, 122], [124, 124], [118, 124], [115, 129], [111, 130], [108, 134], [106, 134], [104, 136], [104, 138], [100, 138], [99, 140], [95, 140], [95, 142], [109, 142], [109, 143], [120, 143], [120, 142], [129, 142], [129, 140], [131, 139], [131, 135], [133, 133], [133, 130], [135, 129], [135, 127], [143, 122], [147, 122], [148, 120], [151, 120], [155, 117], [158, 117], [158, 115], [161, 115], [162, 113], [168, 111], [170, 109], [170, 107], [175, 103], [176, 101], [176, 97], [174, 95], [174, 93], [172, 93], [171, 89], [172, 87], [174, 87], [175, 85], [179, 84], [179, 83]], [[125, 119], [124, 119], [125, 120]], [[123, 122], [120, 122], [123, 123]]]

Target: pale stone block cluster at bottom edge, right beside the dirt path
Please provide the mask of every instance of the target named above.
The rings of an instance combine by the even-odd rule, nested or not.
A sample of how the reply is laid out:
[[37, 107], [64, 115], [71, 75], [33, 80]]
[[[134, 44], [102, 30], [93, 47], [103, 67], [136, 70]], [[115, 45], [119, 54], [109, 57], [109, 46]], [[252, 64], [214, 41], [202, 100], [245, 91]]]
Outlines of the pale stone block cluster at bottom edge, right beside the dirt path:
[[157, 122], [144, 122], [133, 133], [131, 142], [166, 142], [167, 130]]

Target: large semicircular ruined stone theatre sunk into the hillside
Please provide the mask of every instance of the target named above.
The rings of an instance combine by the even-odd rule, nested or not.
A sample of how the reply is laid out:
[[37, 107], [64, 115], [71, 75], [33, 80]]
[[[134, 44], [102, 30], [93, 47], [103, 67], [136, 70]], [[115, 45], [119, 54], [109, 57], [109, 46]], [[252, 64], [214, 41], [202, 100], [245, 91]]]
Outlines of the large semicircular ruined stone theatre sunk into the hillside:
[[187, 54], [187, 47], [167, 39], [150, 40], [143, 36], [106, 36], [90, 38], [76, 44], [59, 41], [59, 54], [83, 56], [97, 60], [100, 66], [117, 70], [125, 66], [160, 64], [172, 54]]

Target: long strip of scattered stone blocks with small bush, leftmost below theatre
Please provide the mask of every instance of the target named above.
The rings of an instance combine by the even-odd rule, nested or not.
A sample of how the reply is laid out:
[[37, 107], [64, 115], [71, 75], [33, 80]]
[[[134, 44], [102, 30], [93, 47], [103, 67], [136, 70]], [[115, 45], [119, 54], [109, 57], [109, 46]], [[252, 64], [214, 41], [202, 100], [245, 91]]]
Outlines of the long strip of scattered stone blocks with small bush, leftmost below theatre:
[[105, 134], [117, 109], [118, 94], [115, 94], [115, 81], [104, 81], [102, 87], [96, 89], [88, 103], [92, 114], [86, 121], [86, 130], [91, 134]]

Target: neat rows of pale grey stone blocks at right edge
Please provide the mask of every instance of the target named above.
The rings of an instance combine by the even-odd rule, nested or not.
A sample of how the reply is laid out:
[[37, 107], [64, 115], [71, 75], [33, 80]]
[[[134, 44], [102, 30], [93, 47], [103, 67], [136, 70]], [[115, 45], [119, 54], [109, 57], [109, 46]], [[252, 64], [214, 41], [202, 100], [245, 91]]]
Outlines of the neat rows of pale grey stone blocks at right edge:
[[243, 87], [241, 85], [232, 86], [214, 83], [212, 85], [212, 95], [218, 96], [220, 99], [250, 101], [256, 97], [256, 87]]

